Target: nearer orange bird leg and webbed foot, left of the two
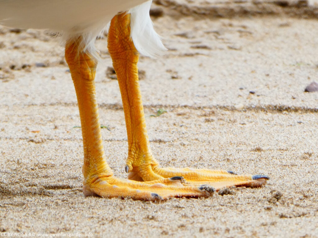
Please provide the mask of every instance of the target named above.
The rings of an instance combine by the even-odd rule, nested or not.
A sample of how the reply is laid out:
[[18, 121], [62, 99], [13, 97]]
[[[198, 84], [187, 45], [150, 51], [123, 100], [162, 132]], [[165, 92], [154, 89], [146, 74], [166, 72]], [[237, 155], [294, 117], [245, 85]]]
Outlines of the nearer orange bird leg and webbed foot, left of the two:
[[[114, 177], [106, 162], [102, 144], [98, 107], [95, 92], [97, 61], [80, 49], [81, 37], [66, 44], [65, 58], [75, 86], [84, 147], [83, 192], [102, 197], [131, 197], [141, 200], [158, 200], [169, 197], [208, 196], [211, 186], [184, 186], [181, 177], [160, 178], [150, 182], [136, 182]], [[128, 62], [122, 67], [127, 68]]]

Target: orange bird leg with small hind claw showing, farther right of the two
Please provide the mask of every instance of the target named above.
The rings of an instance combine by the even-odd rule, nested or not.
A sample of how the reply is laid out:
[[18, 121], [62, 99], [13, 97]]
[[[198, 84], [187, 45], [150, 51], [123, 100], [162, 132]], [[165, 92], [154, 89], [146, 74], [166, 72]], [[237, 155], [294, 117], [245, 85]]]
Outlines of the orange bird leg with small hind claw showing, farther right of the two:
[[139, 54], [130, 39], [129, 14], [123, 13], [113, 18], [108, 32], [108, 51], [117, 74], [125, 113], [128, 136], [125, 170], [129, 173], [129, 179], [152, 181], [180, 176], [184, 178], [185, 184], [208, 184], [217, 190], [231, 186], [259, 187], [266, 183], [268, 177], [265, 175], [235, 175], [225, 170], [160, 168], [149, 147], [138, 83]]

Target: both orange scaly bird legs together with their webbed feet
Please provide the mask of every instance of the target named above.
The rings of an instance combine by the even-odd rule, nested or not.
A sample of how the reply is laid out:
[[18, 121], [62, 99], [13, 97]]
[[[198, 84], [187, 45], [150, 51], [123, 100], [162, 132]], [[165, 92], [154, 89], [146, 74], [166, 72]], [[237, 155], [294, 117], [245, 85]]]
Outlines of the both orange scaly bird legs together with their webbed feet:
[[[265, 175], [236, 175], [232, 171], [160, 168], [154, 159], [146, 130], [138, 83], [138, 51], [130, 39], [130, 15], [116, 15], [110, 24], [108, 50], [121, 91], [128, 136], [128, 179], [116, 178], [106, 162], [95, 92], [96, 59], [83, 52], [79, 42], [66, 43], [65, 57], [77, 95], [84, 144], [83, 192], [101, 197], [160, 200], [169, 197], [209, 196], [232, 186], [259, 187]], [[78, 52], [83, 52], [78, 54]]]

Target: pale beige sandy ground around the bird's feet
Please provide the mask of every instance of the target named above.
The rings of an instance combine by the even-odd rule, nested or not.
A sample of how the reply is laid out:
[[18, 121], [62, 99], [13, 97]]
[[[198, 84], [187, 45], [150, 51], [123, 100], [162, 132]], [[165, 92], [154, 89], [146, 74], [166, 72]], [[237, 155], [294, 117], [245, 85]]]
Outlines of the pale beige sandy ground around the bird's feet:
[[[203, 199], [85, 197], [81, 131], [73, 128], [79, 112], [59, 39], [0, 28], [0, 234], [318, 237], [318, 92], [304, 92], [318, 81], [316, 6], [156, 3], [163, 15], [154, 23], [169, 51], [139, 62], [153, 154], [162, 166], [270, 180]], [[221, 17], [201, 12], [230, 8], [237, 11]], [[96, 45], [101, 124], [111, 130], [102, 130], [107, 161], [126, 177], [120, 92], [107, 76], [106, 39]], [[150, 117], [160, 108], [168, 112]]]

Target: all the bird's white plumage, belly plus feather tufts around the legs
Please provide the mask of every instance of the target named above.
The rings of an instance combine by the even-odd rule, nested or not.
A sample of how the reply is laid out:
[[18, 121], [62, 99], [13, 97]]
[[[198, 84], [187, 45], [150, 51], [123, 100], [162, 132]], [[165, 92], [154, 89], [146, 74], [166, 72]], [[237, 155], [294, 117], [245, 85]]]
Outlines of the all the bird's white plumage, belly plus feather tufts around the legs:
[[12, 28], [49, 29], [68, 40], [82, 36], [85, 50], [119, 12], [131, 14], [131, 38], [145, 56], [161, 54], [165, 47], [149, 16], [152, 1], [145, 0], [0, 0], [0, 24]]

